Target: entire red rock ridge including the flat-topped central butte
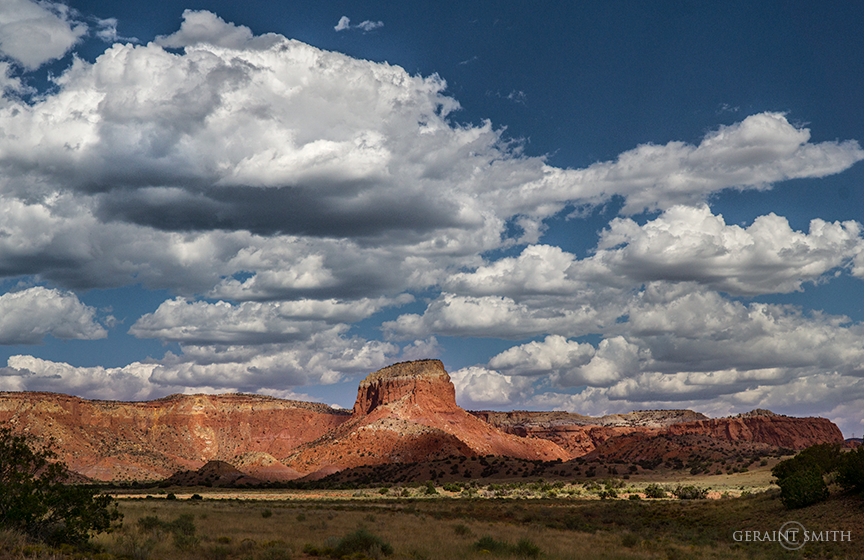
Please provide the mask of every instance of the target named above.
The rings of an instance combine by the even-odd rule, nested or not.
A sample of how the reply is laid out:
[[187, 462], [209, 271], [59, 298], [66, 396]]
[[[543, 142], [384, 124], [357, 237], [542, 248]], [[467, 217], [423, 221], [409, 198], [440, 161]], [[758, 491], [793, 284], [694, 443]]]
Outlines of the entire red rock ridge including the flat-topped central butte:
[[[352, 412], [244, 394], [115, 402], [23, 392], [0, 393], [0, 423], [53, 438], [72, 471], [114, 481], [157, 480], [178, 471], [188, 478], [211, 461], [222, 463], [211, 464], [205, 476], [215, 480], [210, 472], [215, 469], [222, 473], [216, 478], [239, 480], [226, 470], [230, 464], [251, 481], [314, 478], [343, 468], [452, 456], [554, 461], [602, 448], [604, 456], [632, 458], [641, 457], [642, 442], [660, 436], [684, 437], [680, 449], [696, 436], [789, 449], [843, 443], [837, 426], [824, 418], [762, 410], [718, 419], [690, 410], [599, 418], [565, 412], [469, 413], [456, 404], [453, 383], [439, 360], [371, 373], [360, 383]], [[660, 443], [658, 449], [668, 447]], [[664, 453], [672, 453], [671, 448]]]

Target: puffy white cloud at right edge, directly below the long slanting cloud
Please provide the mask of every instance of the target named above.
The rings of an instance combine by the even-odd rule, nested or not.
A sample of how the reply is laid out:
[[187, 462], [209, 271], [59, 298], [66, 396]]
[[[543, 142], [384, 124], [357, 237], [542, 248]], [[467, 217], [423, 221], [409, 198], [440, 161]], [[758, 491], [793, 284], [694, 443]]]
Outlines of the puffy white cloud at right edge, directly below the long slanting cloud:
[[[817, 282], [864, 252], [861, 225], [814, 219], [792, 230], [775, 214], [746, 228], [727, 225], [706, 206], [675, 206], [639, 226], [616, 218], [602, 232], [586, 266], [605, 269], [607, 282], [627, 279], [695, 281], [736, 295], [785, 293]], [[601, 273], [594, 269], [589, 274]]]

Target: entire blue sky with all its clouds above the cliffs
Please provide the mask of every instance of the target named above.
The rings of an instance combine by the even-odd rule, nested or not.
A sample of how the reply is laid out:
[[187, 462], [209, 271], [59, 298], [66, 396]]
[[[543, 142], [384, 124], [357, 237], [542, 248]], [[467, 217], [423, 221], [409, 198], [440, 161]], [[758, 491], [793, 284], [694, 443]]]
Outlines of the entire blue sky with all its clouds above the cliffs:
[[0, 0], [0, 390], [864, 432], [864, 4]]

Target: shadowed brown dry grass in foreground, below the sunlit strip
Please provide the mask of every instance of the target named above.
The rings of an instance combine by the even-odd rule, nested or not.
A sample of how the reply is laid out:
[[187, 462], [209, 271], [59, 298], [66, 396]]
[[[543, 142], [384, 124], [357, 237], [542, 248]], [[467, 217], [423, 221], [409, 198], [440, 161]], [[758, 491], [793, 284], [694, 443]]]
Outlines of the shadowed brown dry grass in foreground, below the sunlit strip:
[[[303, 549], [333, 547], [365, 528], [390, 543], [391, 558], [473, 559], [490, 554], [474, 547], [481, 537], [517, 543], [528, 539], [542, 558], [720, 559], [862, 557], [864, 505], [832, 499], [787, 511], [771, 494], [743, 499], [695, 501], [537, 500], [433, 498], [351, 501], [124, 500], [121, 533], [98, 539], [111, 555], [130, 554], [146, 535], [137, 520], [171, 521], [191, 515], [196, 546], [180, 550], [166, 534], [140, 552], [140, 560], [257, 560], [305, 558]], [[269, 510], [272, 514], [264, 517]], [[819, 543], [789, 553], [777, 543], [736, 543], [732, 532], [771, 531], [788, 520], [814, 530], [851, 531], [853, 543]], [[858, 542], [854, 542], [854, 541]], [[123, 547], [126, 547], [125, 549]], [[509, 554], [509, 555], [508, 555]], [[856, 556], [858, 555], [858, 556]], [[496, 557], [515, 558], [512, 553]]]

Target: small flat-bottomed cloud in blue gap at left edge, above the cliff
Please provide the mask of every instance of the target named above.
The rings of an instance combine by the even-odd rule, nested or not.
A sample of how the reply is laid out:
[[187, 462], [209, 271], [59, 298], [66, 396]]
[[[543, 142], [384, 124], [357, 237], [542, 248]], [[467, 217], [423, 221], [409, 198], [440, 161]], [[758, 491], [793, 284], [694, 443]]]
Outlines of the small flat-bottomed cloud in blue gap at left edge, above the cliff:
[[36, 286], [0, 296], [0, 344], [39, 344], [47, 334], [64, 340], [108, 336], [96, 310], [71, 292]]

